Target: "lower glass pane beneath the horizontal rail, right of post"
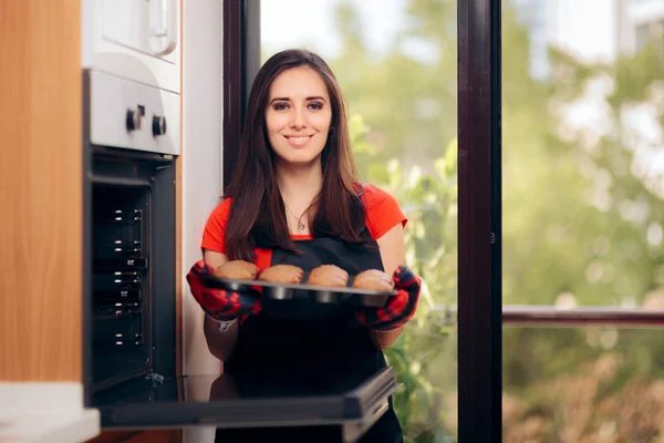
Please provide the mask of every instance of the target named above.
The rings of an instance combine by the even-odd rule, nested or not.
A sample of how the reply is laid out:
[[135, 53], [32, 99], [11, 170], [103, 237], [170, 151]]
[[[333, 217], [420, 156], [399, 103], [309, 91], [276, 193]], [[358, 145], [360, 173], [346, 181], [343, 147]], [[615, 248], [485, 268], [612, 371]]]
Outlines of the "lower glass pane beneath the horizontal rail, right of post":
[[506, 442], [657, 442], [664, 330], [506, 327]]

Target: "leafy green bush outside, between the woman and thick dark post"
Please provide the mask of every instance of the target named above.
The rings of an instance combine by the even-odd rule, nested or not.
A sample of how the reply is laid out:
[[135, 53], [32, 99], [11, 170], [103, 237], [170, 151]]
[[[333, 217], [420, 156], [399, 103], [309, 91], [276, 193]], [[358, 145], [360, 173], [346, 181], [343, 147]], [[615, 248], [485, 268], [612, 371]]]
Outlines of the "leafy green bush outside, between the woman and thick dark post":
[[[364, 142], [370, 127], [359, 115], [350, 121], [355, 151], [370, 152]], [[385, 351], [403, 383], [394, 395], [395, 410], [406, 440], [417, 442], [448, 435], [445, 395], [456, 383], [455, 322], [444, 310], [436, 310], [437, 303], [456, 300], [456, 141], [434, 161], [434, 171], [435, 175], [427, 175], [414, 167], [406, 174], [398, 162], [391, 161], [373, 163], [367, 172], [369, 182], [407, 202], [403, 207], [408, 217], [406, 265], [425, 281], [415, 318]]]

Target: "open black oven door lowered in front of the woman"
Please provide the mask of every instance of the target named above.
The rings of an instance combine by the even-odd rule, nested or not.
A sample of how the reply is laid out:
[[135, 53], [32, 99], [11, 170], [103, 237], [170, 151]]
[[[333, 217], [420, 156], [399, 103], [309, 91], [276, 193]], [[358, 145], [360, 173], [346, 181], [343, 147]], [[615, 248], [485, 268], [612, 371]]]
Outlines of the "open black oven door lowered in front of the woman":
[[104, 429], [302, 426], [364, 422], [400, 387], [391, 367], [334, 383], [309, 374], [153, 377], [93, 398]]

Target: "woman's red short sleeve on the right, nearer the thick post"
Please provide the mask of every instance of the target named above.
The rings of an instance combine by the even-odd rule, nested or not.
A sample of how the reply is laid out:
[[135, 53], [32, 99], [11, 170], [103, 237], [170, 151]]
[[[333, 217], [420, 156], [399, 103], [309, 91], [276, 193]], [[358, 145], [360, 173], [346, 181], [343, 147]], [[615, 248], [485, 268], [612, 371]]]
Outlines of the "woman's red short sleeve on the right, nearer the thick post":
[[408, 222], [396, 198], [376, 186], [364, 185], [362, 202], [366, 210], [366, 227], [375, 240], [397, 224], [405, 227]]

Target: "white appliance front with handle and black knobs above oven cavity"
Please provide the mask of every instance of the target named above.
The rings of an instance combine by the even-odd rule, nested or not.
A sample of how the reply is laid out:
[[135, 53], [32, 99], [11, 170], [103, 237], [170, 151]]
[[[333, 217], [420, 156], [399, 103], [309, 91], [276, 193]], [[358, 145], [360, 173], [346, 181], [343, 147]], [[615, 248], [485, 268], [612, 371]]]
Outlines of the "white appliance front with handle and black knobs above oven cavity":
[[180, 0], [84, 0], [93, 145], [180, 152]]

